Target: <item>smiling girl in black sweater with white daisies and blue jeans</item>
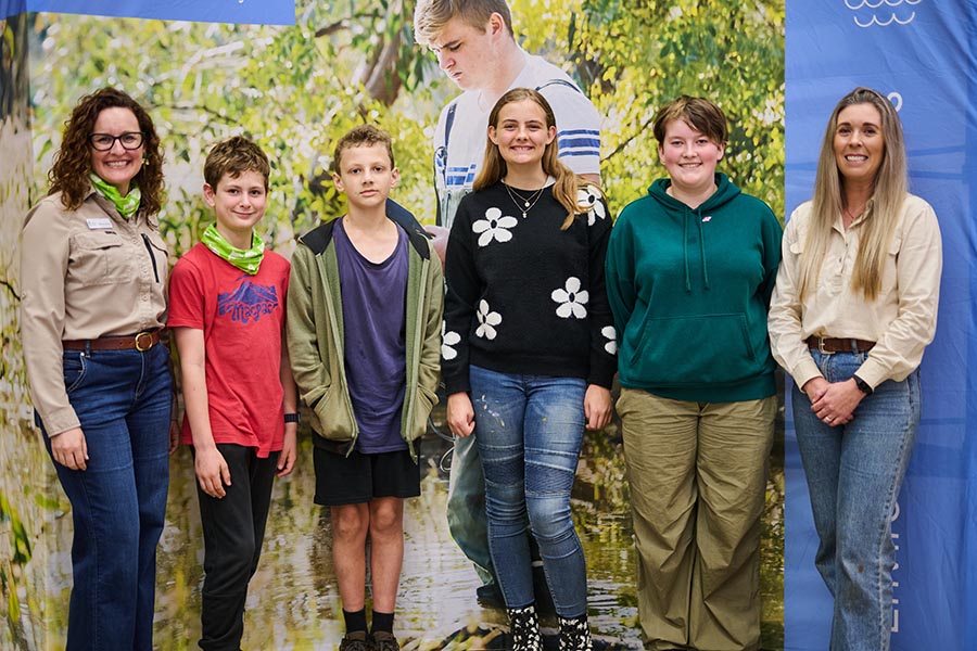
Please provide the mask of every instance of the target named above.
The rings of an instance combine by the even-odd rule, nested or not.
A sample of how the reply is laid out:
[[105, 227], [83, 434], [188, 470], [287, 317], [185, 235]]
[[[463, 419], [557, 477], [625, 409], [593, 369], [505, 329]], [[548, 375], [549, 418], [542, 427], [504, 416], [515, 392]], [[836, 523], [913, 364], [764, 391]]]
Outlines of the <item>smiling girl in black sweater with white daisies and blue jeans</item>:
[[560, 649], [584, 651], [586, 564], [570, 489], [584, 429], [611, 416], [610, 217], [599, 190], [557, 161], [553, 110], [538, 92], [504, 94], [487, 130], [485, 163], [458, 207], [445, 261], [447, 422], [455, 435], [477, 437], [512, 648], [542, 649], [532, 535]]

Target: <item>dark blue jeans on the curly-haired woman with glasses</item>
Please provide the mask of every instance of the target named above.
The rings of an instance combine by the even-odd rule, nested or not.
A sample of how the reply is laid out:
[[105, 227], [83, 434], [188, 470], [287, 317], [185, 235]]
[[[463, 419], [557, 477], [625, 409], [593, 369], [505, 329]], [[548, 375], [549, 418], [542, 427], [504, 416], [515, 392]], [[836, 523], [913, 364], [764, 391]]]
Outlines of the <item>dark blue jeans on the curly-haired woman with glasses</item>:
[[[67, 651], [153, 648], [156, 544], [169, 489], [169, 352], [65, 350], [88, 469], [54, 463], [72, 502]], [[48, 452], [51, 443], [45, 434]]]

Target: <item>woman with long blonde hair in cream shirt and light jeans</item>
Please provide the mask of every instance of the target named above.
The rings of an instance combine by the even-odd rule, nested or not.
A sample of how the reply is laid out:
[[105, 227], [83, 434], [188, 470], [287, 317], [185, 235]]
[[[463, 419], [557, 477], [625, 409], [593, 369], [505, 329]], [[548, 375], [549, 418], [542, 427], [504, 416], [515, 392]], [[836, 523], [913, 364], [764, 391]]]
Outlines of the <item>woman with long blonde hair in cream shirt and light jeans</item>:
[[942, 245], [906, 191], [894, 106], [855, 88], [832, 113], [813, 200], [791, 215], [770, 309], [835, 597], [833, 651], [886, 650], [890, 518], [919, 426], [919, 362], [936, 331]]

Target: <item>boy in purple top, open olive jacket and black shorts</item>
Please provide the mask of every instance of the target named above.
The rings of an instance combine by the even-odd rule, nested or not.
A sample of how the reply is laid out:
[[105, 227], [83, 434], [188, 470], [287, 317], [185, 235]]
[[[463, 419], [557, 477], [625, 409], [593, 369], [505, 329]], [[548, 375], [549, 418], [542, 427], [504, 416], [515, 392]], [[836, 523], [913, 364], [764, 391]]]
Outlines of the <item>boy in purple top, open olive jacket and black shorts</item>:
[[437, 401], [442, 270], [423, 231], [386, 214], [398, 179], [390, 136], [356, 127], [337, 144], [333, 166], [348, 213], [299, 240], [289, 353], [316, 433], [315, 501], [332, 520], [346, 625], [340, 651], [395, 651], [404, 499], [420, 495], [416, 442]]

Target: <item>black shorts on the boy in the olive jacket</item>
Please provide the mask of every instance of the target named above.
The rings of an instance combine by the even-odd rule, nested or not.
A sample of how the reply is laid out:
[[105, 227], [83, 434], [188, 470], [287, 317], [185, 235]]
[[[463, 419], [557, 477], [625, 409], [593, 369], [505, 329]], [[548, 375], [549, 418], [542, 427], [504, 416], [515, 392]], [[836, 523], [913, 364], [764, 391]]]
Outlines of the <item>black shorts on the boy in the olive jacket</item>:
[[364, 455], [359, 450], [345, 457], [314, 448], [316, 469], [315, 502], [323, 507], [361, 505], [375, 497], [417, 497], [420, 495], [420, 464], [408, 450]]

